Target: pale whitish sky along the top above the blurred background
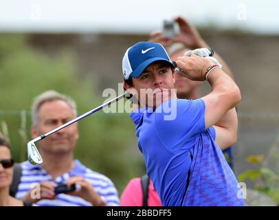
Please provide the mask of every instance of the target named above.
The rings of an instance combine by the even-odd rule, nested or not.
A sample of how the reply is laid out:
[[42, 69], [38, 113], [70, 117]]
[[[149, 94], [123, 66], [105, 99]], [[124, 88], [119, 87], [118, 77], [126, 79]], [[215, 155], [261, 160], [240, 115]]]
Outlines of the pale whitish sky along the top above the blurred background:
[[279, 34], [278, 8], [276, 0], [0, 0], [0, 32], [148, 33], [181, 15], [195, 25]]

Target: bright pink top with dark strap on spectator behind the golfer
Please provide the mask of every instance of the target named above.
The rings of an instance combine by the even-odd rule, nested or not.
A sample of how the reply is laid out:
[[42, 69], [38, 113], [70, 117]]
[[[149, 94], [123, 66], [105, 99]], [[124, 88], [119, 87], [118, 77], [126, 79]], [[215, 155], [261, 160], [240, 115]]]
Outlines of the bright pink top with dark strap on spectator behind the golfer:
[[[152, 181], [145, 175], [148, 181], [147, 204], [146, 206], [161, 206], [161, 200], [157, 194]], [[142, 178], [144, 178], [142, 177]], [[143, 179], [144, 180], [144, 179]], [[124, 188], [120, 199], [121, 206], [144, 206], [144, 191], [141, 178], [133, 178]], [[146, 182], [147, 183], [147, 182]]]

